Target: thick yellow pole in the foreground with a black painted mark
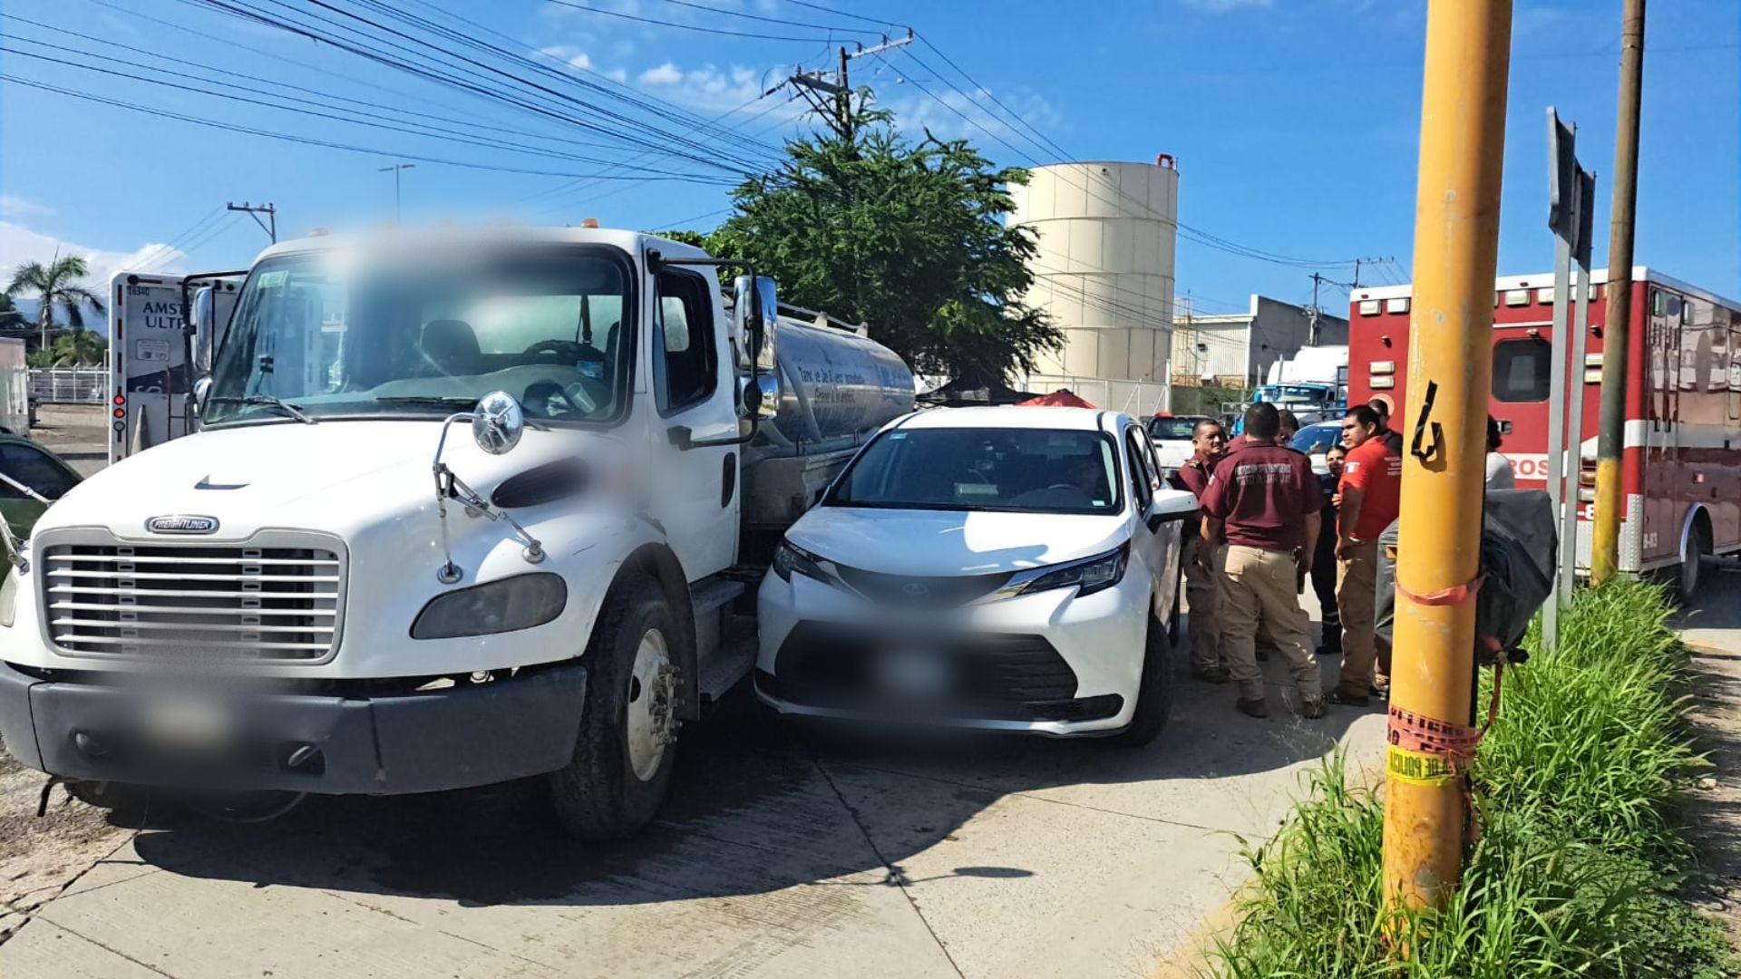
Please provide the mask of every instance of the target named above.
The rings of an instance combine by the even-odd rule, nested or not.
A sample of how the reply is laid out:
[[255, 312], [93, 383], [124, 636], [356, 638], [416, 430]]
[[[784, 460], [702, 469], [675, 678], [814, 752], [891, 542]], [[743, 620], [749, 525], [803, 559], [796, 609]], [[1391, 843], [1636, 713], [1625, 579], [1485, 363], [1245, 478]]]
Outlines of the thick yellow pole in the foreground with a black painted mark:
[[1410, 906], [1462, 868], [1464, 758], [1443, 742], [1471, 719], [1509, 47], [1511, 0], [1428, 3], [1384, 798], [1384, 894]]

